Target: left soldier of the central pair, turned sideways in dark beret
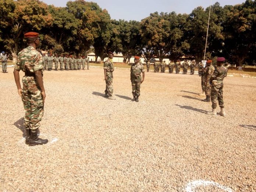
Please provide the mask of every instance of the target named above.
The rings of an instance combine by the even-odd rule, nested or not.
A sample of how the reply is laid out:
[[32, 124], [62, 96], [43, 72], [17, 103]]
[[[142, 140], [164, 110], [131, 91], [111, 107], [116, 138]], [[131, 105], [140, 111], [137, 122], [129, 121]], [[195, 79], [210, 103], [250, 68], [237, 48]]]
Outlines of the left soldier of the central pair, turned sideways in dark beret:
[[113, 97], [113, 59], [114, 53], [109, 51], [109, 58], [104, 63], [104, 80], [106, 82], [105, 96], [109, 99], [115, 100]]

